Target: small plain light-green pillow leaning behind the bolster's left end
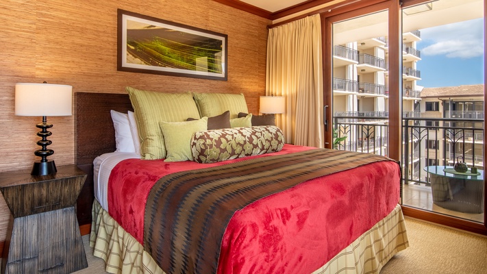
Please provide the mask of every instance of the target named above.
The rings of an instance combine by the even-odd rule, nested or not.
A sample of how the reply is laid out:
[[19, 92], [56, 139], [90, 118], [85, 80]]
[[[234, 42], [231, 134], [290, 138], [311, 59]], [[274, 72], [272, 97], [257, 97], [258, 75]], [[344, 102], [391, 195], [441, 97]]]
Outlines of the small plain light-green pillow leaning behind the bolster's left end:
[[160, 122], [167, 151], [164, 162], [192, 160], [190, 145], [192, 134], [206, 130], [207, 124], [208, 117], [187, 122]]

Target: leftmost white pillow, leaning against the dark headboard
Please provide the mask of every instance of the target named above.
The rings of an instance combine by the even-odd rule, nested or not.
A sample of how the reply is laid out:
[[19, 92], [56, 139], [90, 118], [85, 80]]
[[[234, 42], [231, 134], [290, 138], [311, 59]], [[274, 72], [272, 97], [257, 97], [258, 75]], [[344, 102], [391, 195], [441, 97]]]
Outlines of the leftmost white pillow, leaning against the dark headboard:
[[110, 110], [115, 128], [115, 144], [118, 152], [135, 152], [134, 139], [130, 131], [128, 114]]

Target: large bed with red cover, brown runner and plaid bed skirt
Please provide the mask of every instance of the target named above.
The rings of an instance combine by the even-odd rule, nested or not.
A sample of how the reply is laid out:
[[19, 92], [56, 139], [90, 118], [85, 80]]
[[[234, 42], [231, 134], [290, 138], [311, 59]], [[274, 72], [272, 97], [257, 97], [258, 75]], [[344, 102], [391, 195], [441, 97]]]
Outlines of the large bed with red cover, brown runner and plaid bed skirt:
[[[212, 160], [208, 159], [209, 149], [205, 151], [202, 145], [200, 151], [192, 149], [192, 161], [185, 161], [187, 155], [173, 153], [171, 147], [165, 158], [149, 155], [141, 160], [137, 149], [114, 152], [118, 143], [114, 144], [116, 132], [110, 129], [114, 127], [110, 111], [133, 111], [134, 101], [131, 103], [128, 95], [77, 92], [75, 101], [77, 132], [89, 128], [89, 132], [99, 133], [97, 140], [103, 140], [93, 142], [92, 134], [78, 134], [76, 147], [77, 163], [94, 174], [93, 182], [86, 183], [91, 189], [85, 195], [92, 192], [95, 197], [90, 245], [95, 247], [94, 255], [105, 260], [105, 270], [110, 273], [379, 273], [395, 253], [408, 247], [398, 205], [397, 162], [277, 142], [279, 132], [272, 125], [239, 127], [238, 123], [245, 126], [258, 121], [258, 116], [252, 119], [251, 115], [232, 121], [237, 127], [226, 129], [225, 138], [242, 134], [242, 130], [250, 131], [243, 135], [257, 131], [271, 136], [269, 153], [254, 147], [255, 155], [247, 149], [245, 157], [235, 158], [232, 151], [230, 156], [217, 153]], [[210, 96], [196, 101], [203, 108], [215, 101], [232, 104], [231, 119], [245, 112], [245, 107], [235, 107], [238, 103], [232, 100]], [[137, 113], [140, 104], [135, 105]], [[201, 114], [201, 106], [197, 108]], [[208, 114], [204, 116], [213, 116], [204, 111]], [[195, 124], [202, 123], [198, 121], [201, 119]], [[184, 127], [188, 127], [186, 122]], [[206, 143], [215, 132], [223, 134], [222, 130], [201, 131], [199, 136]], [[177, 141], [164, 140], [173, 147]], [[201, 157], [203, 154], [208, 157]], [[164, 162], [170, 157], [176, 161]], [[349, 165], [351, 162], [355, 165]], [[249, 184], [255, 186], [247, 191]], [[208, 197], [213, 195], [208, 192], [195, 195], [201, 186], [208, 186], [210, 192], [222, 188], [228, 192], [218, 194], [225, 199], [218, 196], [210, 201]], [[188, 189], [176, 192], [183, 188]], [[85, 198], [89, 203], [90, 198]], [[223, 209], [216, 208], [221, 204]]]

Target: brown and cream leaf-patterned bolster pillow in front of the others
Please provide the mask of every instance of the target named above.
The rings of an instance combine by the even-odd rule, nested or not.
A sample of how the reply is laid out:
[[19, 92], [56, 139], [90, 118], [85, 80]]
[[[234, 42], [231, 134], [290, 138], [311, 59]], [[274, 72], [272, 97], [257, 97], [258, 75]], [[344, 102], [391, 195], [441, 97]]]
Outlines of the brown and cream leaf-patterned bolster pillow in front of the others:
[[195, 132], [191, 139], [192, 158], [199, 163], [276, 152], [283, 146], [284, 134], [273, 125]]

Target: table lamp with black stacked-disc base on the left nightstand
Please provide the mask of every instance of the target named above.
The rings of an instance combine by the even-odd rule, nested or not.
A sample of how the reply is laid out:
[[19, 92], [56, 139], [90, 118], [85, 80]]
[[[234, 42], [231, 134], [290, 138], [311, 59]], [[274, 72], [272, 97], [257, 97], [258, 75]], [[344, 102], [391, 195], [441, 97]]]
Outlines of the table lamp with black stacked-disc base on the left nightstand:
[[58, 84], [38, 84], [38, 83], [17, 83], [15, 84], [15, 115], [17, 116], [42, 116], [42, 123], [36, 127], [41, 131], [37, 136], [42, 138], [37, 141], [41, 149], [34, 151], [36, 156], [41, 159], [34, 162], [31, 175], [49, 175], [55, 174], [58, 170], [55, 168], [53, 160], [47, 160], [47, 156], [53, 155], [52, 149], [47, 149], [51, 145], [51, 132], [47, 129], [53, 125], [47, 123], [47, 116], [71, 116], [73, 87]]

